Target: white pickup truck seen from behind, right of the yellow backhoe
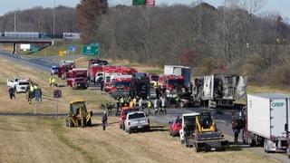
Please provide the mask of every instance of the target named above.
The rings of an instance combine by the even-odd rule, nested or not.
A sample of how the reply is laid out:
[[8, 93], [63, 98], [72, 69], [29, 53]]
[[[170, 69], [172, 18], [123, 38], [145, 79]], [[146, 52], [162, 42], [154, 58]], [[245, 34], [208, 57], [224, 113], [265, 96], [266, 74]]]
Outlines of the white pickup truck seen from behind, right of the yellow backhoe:
[[132, 130], [150, 130], [150, 121], [144, 111], [133, 111], [127, 114], [125, 130], [131, 133]]

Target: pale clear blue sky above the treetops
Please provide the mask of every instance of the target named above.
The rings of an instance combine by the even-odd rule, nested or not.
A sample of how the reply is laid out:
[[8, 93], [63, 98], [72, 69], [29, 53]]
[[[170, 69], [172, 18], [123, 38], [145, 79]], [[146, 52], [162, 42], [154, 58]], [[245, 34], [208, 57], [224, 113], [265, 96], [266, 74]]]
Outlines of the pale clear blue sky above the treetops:
[[[131, 5], [132, 0], [108, 0], [110, 5]], [[190, 5], [195, 0], [155, 0], [157, 5], [161, 4], [186, 4]], [[224, 0], [203, 0], [210, 5], [219, 6]], [[80, 0], [55, 0], [55, 5], [75, 6]], [[27, 9], [34, 6], [53, 7], [54, 0], [0, 0], [0, 15], [15, 9]], [[282, 14], [284, 18], [290, 18], [290, 0], [266, 0], [263, 11]]]

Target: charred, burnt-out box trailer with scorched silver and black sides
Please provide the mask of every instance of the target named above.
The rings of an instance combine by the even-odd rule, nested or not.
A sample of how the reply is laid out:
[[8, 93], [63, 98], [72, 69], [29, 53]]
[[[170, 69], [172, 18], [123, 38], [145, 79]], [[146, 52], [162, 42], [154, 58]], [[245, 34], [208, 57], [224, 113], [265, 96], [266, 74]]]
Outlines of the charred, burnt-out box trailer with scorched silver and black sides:
[[246, 98], [247, 77], [233, 74], [214, 74], [194, 79], [194, 96], [201, 105], [216, 108], [233, 106], [234, 101]]

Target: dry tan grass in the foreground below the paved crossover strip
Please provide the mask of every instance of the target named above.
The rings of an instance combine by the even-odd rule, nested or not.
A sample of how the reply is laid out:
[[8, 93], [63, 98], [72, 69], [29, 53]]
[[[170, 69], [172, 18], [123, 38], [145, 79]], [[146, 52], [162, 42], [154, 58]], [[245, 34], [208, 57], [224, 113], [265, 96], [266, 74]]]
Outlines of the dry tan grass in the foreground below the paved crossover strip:
[[66, 128], [64, 119], [0, 119], [0, 162], [277, 162], [247, 149], [195, 153], [171, 138], [167, 127], [151, 124], [150, 132], [128, 134], [118, 119], [92, 117], [90, 128]]

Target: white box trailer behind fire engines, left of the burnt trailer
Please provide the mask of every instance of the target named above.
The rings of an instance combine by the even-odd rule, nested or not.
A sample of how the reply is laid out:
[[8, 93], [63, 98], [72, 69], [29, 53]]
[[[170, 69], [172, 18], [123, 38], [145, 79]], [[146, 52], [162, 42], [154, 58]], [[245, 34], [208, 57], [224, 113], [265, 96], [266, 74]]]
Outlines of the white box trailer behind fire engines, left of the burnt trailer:
[[191, 68], [182, 65], [164, 65], [164, 74], [180, 75], [184, 77], [184, 84], [189, 86], [191, 82]]

